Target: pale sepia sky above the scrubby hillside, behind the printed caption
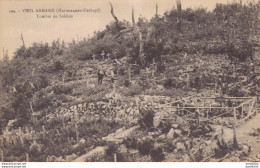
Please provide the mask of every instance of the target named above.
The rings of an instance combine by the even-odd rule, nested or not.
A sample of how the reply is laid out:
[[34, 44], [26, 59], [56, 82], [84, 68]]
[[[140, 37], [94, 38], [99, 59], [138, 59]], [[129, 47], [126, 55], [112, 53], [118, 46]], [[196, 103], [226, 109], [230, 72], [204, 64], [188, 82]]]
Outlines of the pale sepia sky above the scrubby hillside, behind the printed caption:
[[[216, 3], [227, 4], [239, 0], [181, 0], [182, 9], [207, 8], [213, 10]], [[155, 14], [176, 6], [176, 0], [110, 0], [114, 13], [119, 20], [131, 21], [132, 6], [135, 9], [135, 19], [139, 16], [150, 19]], [[34, 12], [23, 12], [23, 9], [33, 9]], [[54, 9], [55, 12], [36, 12], [36, 9]], [[57, 9], [93, 9], [97, 12], [57, 13]], [[15, 10], [15, 13], [10, 11]], [[37, 18], [38, 15], [72, 14], [73, 18]], [[9, 57], [22, 46], [20, 39], [23, 34], [25, 46], [33, 42], [49, 42], [61, 39], [69, 42], [92, 36], [94, 31], [103, 30], [113, 21], [108, 0], [0, 0], [0, 60], [3, 58], [3, 48], [8, 49]]]

